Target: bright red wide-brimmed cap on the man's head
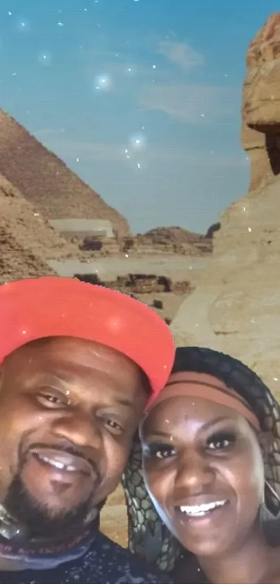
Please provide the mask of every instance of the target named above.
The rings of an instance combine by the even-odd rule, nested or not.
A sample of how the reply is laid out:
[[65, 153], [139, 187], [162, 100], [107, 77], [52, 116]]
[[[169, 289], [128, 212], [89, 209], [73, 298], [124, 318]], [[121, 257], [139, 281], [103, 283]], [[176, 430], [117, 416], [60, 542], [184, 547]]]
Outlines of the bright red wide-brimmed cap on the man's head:
[[26, 342], [54, 336], [99, 342], [131, 358], [150, 381], [151, 400], [174, 362], [167, 324], [127, 294], [60, 276], [0, 286], [0, 363]]

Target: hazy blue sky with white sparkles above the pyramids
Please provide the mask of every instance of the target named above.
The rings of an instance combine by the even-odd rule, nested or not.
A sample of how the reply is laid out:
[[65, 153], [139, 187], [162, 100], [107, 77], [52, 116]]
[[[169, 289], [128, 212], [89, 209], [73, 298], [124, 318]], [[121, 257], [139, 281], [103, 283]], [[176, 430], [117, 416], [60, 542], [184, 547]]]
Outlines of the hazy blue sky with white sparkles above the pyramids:
[[0, 106], [133, 231], [205, 232], [245, 194], [249, 41], [274, 0], [1, 0]]

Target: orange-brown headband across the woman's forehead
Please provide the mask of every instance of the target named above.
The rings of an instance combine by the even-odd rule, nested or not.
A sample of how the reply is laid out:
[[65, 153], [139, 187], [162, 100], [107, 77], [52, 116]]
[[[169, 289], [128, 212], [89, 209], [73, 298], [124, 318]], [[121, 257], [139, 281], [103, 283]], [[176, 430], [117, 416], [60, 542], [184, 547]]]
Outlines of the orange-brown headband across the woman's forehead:
[[[173, 386], [181, 385], [181, 388], [174, 388]], [[195, 385], [195, 388], [192, 386]], [[208, 391], [207, 391], [208, 388]], [[209, 391], [211, 388], [211, 391]], [[230, 390], [229, 390], [230, 391]], [[233, 391], [233, 390], [231, 390]], [[158, 396], [155, 404], [159, 404], [163, 400], [167, 400], [169, 397], [199, 397], [203, 400], [208, 400], [208, 402], [215, 402], [215, 404], [221, 404], [222, 406], [227, 406], [231, 409], [238, 411], [256, 430], [260, 429], [260, 423], [255, 414], [249, 409], [246, 402], [242, 401], [236, 393], [232, 395], [228, 393], [223, 388], [213, 386], [211, 384], [192, 381], [191, 379], [181, 379], [180, 381], [172, 381], [170, 384], [165, 386], [165, 389]]]

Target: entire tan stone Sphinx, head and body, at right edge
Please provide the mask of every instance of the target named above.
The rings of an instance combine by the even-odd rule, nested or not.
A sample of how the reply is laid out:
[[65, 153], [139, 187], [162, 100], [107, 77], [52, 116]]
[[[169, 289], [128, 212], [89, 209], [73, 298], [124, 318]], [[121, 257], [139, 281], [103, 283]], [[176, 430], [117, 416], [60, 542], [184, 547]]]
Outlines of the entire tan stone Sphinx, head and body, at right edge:
[[242, 136], [252, 163], [249, 192], [222, 214], [208, 267], [172, 322], [178, 345], [212, 347], [240, 358], [278, 397], [280, 175], [267, 154], [267, 141], [273, 137], [276, 144], [280, 130], [280, 109], [274, 107], [274, 97], [280, 105], [280, 77], [275, 77], [279, 25], [280, 13], [269, 19], [248, 52]]

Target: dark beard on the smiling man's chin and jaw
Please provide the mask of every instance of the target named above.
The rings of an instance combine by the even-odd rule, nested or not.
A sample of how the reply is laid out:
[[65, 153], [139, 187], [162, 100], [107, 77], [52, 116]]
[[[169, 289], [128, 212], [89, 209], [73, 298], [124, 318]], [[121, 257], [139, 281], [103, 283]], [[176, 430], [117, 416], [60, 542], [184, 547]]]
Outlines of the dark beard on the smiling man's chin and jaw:
[[18, 473], [10, 484], [3, 507], [16, 521], [28, 528], [31, 537], [63, 539], [64, 536], [71, 539], [85, 528], [85, 520], [92, 505], [87, 500], [71, 510], [54, 514], [47, 505], [28, 493]]

